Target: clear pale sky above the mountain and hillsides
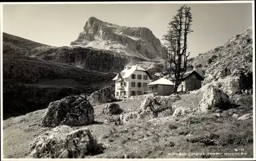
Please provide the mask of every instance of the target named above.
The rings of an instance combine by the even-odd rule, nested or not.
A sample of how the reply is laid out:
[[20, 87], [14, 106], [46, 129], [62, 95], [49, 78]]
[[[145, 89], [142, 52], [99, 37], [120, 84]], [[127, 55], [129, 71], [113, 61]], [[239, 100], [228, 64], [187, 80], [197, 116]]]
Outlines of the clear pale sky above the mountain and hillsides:
[[[3, 5], [3, 32], [32, 41], [69, 46], [89, 17], [119, 26], [146, 27], [161, 39], [168, 22], [184, 4]], [[252, 27], [252, 4], [186, 4], [194, 22], [189, 57], [207, 52]]]

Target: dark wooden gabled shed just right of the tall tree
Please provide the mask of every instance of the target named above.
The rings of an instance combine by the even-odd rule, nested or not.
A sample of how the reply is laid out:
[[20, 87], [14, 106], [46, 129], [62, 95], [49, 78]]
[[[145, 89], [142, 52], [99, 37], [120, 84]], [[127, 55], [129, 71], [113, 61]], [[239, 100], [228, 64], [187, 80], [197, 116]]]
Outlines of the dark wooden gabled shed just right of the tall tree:
[[[175, 79], [174, 76], [172, 78]], [[169, 78], [169, 80], [172, 80]], [[196, 90], [202, 87], [202, 81], [204, 78], [196, 71], [186, 72], [181, 78], [181, 84], [178, 87], [178, 91]]]

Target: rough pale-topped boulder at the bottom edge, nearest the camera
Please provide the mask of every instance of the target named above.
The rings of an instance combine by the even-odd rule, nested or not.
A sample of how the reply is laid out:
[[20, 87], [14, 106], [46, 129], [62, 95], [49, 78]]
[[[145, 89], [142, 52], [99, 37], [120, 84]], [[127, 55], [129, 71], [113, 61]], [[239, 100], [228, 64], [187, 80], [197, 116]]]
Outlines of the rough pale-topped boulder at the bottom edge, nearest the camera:
[[30, 143], [30, 158], [84, 158], [94, 154], [97, 143], [87, 128], [73, 130], [61, 125]]

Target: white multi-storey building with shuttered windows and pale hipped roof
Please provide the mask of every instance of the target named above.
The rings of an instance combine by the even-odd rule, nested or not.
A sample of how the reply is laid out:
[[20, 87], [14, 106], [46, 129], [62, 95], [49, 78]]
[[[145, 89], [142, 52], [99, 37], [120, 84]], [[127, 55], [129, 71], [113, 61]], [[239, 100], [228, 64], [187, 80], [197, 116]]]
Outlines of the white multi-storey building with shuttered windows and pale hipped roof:
[[144, 87], [152, 82], [152, 77], [138, 65], [124, 66], [124, 70], [113, 79], [116, 99], [143, 95]]

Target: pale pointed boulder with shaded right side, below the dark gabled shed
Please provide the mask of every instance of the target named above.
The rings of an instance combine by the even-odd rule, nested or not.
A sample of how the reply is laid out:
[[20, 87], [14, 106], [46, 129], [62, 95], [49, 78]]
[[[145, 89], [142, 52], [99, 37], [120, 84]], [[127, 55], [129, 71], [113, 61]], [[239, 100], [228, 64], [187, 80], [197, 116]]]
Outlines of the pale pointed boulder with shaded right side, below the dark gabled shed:
[[203, 94], [202, 100], [198, 106], [202, 112], [209, 112], [211, 108], [218, 107], [227, 109], [230, 106], [228, 95], [214, 85], [209, 85]]

